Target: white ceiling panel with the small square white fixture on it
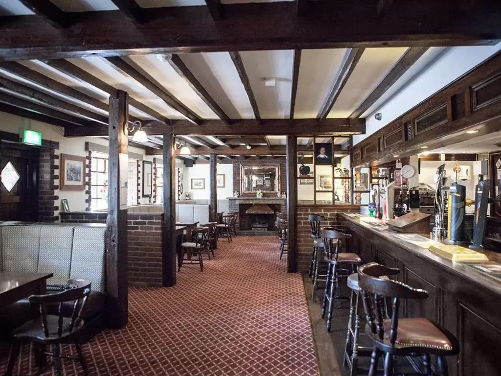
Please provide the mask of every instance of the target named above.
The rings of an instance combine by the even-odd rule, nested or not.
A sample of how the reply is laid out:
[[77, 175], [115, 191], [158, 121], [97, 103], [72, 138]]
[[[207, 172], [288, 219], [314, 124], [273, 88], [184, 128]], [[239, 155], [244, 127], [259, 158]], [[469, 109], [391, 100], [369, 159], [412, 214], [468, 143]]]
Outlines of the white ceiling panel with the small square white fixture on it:
[[[241, 52], [240, 56], [261, 117], [289, 118], [294, 51]], [[274, 79], [275, 86], [266, 86], [267, 78]]]

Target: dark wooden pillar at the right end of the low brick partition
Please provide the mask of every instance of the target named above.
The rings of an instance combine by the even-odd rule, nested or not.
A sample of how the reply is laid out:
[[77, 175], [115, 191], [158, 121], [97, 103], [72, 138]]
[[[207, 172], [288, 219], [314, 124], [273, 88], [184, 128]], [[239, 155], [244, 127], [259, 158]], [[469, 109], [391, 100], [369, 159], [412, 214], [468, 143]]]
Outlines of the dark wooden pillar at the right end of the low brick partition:
[[176, 284], [176, 197], [174, 134], [163, 134], [162, 286]]

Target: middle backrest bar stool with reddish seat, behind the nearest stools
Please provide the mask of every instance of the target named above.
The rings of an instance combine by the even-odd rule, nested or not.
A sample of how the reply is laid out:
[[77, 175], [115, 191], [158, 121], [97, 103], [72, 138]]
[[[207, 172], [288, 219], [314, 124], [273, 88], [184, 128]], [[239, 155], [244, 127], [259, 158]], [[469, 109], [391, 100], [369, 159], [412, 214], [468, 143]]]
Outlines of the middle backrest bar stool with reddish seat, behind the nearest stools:
[[[339, 253], [341, 242], [351, 238], [351, 235], [344, 234], [333, 227], [324, 227], [322, 229], [322, 239], [324, 240], [324, 260], [327, 265], [327, 280], [324, 289], [324, 300], [322, 302], [322, 318], [327, 311], [327, 331], [331, 331], [332, 309], [334, 299], [339, 295], [339, 278], [348, 275], [340, 273], [341, 266], [351, 269], [351, 272], [357, 270], [357, 266], [362, 262], [356, 253]], [[318, 259], [318, 257], [317, 257]], [[327, 305], [329, 303], [329, 305]]]

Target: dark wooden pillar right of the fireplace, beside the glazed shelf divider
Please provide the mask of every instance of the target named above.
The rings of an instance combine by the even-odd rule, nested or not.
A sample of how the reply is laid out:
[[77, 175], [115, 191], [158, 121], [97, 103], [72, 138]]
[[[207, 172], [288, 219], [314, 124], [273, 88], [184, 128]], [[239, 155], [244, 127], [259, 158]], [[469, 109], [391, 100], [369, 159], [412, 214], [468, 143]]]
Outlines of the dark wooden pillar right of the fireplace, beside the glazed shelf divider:
[[298, 205], [298, 153], [297, 137], [287, 136], [287, 224], [289, 235], [287, 243], [287, 271], [298, 271], [296, 206]]

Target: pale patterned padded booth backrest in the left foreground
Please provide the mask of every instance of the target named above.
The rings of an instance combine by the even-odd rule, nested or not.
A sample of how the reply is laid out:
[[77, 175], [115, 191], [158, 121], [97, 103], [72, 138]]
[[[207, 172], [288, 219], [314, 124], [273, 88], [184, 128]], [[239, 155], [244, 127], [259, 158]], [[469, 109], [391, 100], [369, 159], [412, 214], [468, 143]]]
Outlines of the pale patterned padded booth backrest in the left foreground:
[[0, 227], [2, 271], [53, 273], [49, 284], [88, 279], [105, 292], [106, 227], [14, 225]]

